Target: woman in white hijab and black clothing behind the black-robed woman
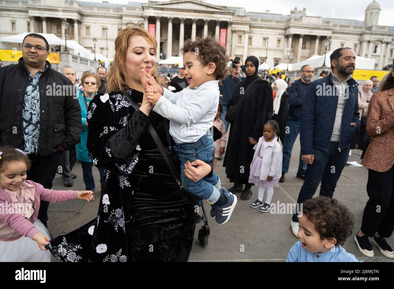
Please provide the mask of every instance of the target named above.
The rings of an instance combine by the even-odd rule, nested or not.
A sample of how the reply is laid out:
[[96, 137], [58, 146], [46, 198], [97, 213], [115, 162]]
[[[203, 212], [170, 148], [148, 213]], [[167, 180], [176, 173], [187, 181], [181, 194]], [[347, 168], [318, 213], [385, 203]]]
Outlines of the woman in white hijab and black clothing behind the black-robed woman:
[[279, 139], [283, 144], [284, 134], [286, 133], [287, 112], [289, 110], [289, 95], [286, 91], [287, 83], [282, 79], [277, 79], [272, 84], [275, 91], [275, 99], [273, 100], [273, 116], [279, 124]]

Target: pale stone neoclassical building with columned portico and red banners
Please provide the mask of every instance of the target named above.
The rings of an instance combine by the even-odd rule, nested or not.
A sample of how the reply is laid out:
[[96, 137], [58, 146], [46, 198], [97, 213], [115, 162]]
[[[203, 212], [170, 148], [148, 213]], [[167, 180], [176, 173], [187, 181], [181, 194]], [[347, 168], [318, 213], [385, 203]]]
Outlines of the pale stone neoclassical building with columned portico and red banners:
[[[211, 35], [242, 60], [249, 55], [270, 66], [303, 61], [327, 50], [351, 47], [362, 57], [374, 58], [375, 69], [393, 60], [394, 27], [379, 26], [380, 6], [374, 0], [365, 10], [364, 21], [307, 15], [306, 9], [286, 15], [256, 13], [242, 7], [216, 6], [209, 0], [170, 0], [127, 5], [103, 1], [0, 0], [0, 37], [22, 32], [54, 33], [77, 41], [108, 58], [114, 55], [116, 35], [125, 27], [143, 27], [156, 37], [165, 58], [180, 56], [185, 39]], [[223, 1], [225, 4], [225, 1]], [[290, 56], [286, 54], [290, 48]], [[159, 50], [158, 50], [159, 51]], [[159, 54], [157, 56], [159, 58]]]

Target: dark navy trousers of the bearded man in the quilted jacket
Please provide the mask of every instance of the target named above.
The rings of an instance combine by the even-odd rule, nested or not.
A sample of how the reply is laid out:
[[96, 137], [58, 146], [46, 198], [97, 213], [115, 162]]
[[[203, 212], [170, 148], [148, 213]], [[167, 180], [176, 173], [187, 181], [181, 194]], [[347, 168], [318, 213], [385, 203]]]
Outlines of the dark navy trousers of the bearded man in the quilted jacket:
[[[305, 200], [312, 198], [319, 183], [320, 196], [332, 198], [334, 195], [336, 182], [338, 182], [349, 157], [350, 147], [340, 152], [338, 150], [338, 142], [330, 142], [328, 152], [322, 150], [313, 150], [314, 161], [312, 165], [308, 165], [305, 174], [305, 181], [299, 191], [297, 203], [302, 204]], [[296, 214], [293, 215], [293, 221], [298, 222]]]

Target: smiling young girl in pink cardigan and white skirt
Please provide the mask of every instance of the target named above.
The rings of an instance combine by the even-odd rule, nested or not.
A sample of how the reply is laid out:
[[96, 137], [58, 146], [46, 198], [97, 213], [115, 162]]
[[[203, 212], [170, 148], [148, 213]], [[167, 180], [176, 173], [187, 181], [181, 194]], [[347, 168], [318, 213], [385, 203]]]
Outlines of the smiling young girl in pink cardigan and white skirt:
[[0, 262], [50, 262], [49, 232], [37, 219], [40, 200], [94, 200], [92, 191], [55, 191], [26, 181], [30, 165], [26, 153], [0, 147]]

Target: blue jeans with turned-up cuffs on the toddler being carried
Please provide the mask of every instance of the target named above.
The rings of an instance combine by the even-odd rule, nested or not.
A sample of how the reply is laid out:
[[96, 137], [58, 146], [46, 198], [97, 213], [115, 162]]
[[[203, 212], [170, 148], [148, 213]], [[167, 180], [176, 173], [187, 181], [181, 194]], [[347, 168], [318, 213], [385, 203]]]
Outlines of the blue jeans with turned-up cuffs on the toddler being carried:
[[189, 193], [198, 196], [211, 203], [215, 203], [220, 196], [219, 187], [220, 179], [215, 172], [212, 172], [211, 177], [204, 177], [198, 182], [193, 182], [185, 176], [184, 164], [186, 161], [191, 163], [196, 159], [201, 161], [211, 161], [215, 151], [215, 143], [210, 130], [195, 143], [176, 143], [174, 151], [180, 161], [180, 178], [182, 185]]

